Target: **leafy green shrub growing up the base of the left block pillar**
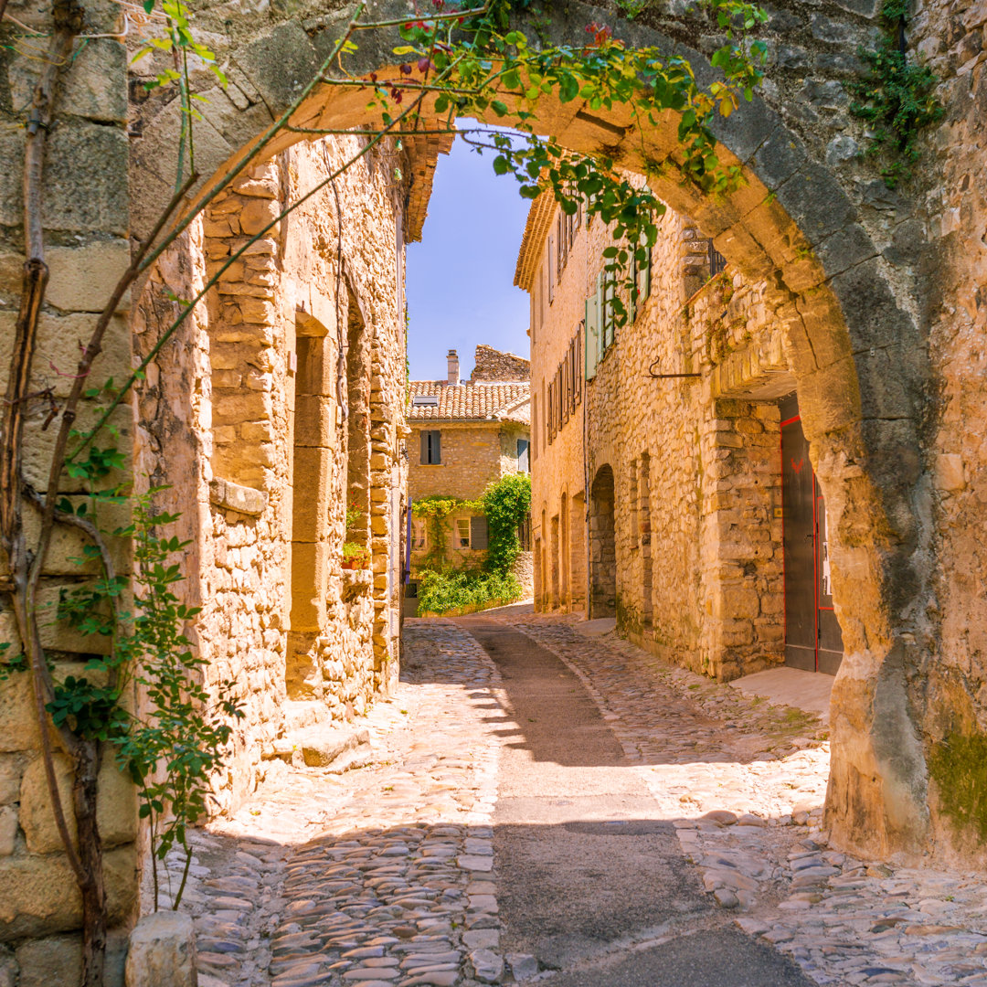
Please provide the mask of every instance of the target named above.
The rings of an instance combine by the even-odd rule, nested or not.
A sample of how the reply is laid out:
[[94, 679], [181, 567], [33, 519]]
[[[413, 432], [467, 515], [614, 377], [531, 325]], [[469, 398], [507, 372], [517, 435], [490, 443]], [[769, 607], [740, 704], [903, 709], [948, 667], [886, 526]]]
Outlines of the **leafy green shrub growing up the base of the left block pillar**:
[[[97, 461], [104, 457], [97, 455]], [[83, 471], [96, 469], [90, 460]], [[155, 867], [176, 845], [190, 859], [187, 827], [206, 814], [210, 780], [223, 764], [230, 720], [243, 716], [233, 698], [236, 684], [220, 682], [210, 693], [202, 684], [205, 658], [190, 648], [183, 628], [197, 616], [175, 586], [184, 580], [176, 553], [189, 543], [162, 537], [159, 530], [179, 515], [155, 513], [152, 500], [161, 488], [124, 496], [118, 491], [94, 493], [87, 513], [96, 516], [101, 503], [128, 503], [131, 522], [112, 533], [133, 545], [134, 573], [97, 578], [62, 593], [58, 619], [83, 636], [109, 638], [110, 653], [91, 658], [88, 675], [67, 676], [55, 685], [46, 707], [56, 726], [76, 735], [114, 744], [120, 767], [137, 786], [140, 817], [150, 822]], [[70, 507], [63, 501], [63, 507]], [[80, 506], [76, 514], [83, 512]], [[99, 562], [94, 545], [84, 547], [80, 564]], [[132, 590], [133, 611], [121, 605]], [[140, 697], [140, 715], [127, 702], [130, 687]], [[181, 891], [175, 907], [181, 900]]]

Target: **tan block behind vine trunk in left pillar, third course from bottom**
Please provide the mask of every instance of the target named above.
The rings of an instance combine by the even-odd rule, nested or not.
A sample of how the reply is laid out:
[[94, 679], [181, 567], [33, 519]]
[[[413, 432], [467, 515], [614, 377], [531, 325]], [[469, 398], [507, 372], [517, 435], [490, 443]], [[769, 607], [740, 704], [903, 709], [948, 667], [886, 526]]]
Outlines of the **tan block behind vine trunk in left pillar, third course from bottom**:
[[[55, 774], [61, 795], [69, 835], [75, 843], [75, 818], [72, 813], [72, 769], [69, 760], [56, 755]], [[97, 821], [105, 847], [130, 843], [137, 835], [137, 798], [133, 783], [119, 772], [113, 756], [104, 758], [99, 775], [99, 808]], [[61, 837], [51, 811], [51, 797], [44, 776], [44, 764], [38, 757], [24, 772], [21, 780], [21, 828], [33, 854], [57, 853], [62, 849]]]

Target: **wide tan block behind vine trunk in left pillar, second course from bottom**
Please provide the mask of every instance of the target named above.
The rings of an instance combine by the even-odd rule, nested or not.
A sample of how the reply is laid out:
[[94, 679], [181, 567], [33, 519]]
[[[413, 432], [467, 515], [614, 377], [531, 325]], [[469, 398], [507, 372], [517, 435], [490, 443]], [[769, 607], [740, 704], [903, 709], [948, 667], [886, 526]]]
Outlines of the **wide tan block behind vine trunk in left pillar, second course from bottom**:
[[[132, 845], [105, 858], [110, 922], [125, 921], [137, 897], [137, 856]], [[0, 942], [77, 929], [82, 901], [64, 854], [0, 858]]]

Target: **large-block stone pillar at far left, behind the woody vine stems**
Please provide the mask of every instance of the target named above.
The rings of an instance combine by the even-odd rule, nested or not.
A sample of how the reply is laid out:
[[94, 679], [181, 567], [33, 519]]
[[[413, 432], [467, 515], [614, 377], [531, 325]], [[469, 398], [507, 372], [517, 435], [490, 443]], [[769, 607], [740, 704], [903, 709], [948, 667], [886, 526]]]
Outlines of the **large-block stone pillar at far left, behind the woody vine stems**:
[[[0, 391], [5, 394], [25, 261], [26, 120], [52, 31], [50, 4], [33, 7], [15, 0], [7, 11], [27, 31], [9, 20], [0, 26], [5, 52], [0, 72]], [[28, 404], [24, 433], [26, 479], [40, 492], [47, 484], [57, 422], [42, 429], [52, 405], [38, 392], [50, 389], [54, 403], [63, 403], [73, 383], [80, 341], [89, 340], [97, 313], [129, 263], [126, 52], [118, 39], [123, 24], [122, 9], [114, 4], [95, 4], [87, 11], [89, 33], [114, 37], [78, 45], [63, 73], [57, 125], [47, 142], [41, 221], [49, 280], [29, 389], [37, 396]], [[119, 381], [129, 370], [128, 308], [129, 300], [124, 298], [105, 337], [104, 355], [94, 367], [94, 385], [110, 377]], [[97, 404], [82, 402], [77, 428], [92, 425]], [[121, 407], [112, 423], [129, 468], [129, 407]], [[109, 440], [103, 443], [110, 444]], [[84, 499], [85, 487], [76, 481], [63, 482], [62, 492], [78, 504]], [[38, 517], [33, 511], [25, 506], [29, 546], [36, 544], [38, 536]], [[101, 515], [110, 529], [128, 520], [124, 507]], [[62, 589], [77, 586], [80, 575], [95, 571], [91, 564], [73, 562], [81, 557], [82, 544], [64, 529], [55, 532], [38, 587], [38, 604], [45, 611], [57, 602]], [[130, 546], [114, 544], [112, 552], [116, 571], [126, 573], [131, 565]], [[0, 551], [0, 643], [13, 645], [6, 658], [20, 650], [11, 614], [11, 588], [8, 561]], [[56, 679], [78, 676], [89, 657], [106, 647], [102, 640], [84, 638], [56, 625], [44, 612], [40, 624], [42, 644], [55, 662]], [[81, 899], [55, 829], [39, 745], [31, 681], [15, 673], [0, 681], [0, 982], [13, 984], [20, 976], [22, 984], [72, 987], [81, 976], [81, 943], [76, 932], [81, 925]], [[69, 769], [57, 744], [55, 769], [69, 829], [74, 832]], [[107, 851], [111, 930], [107, 982], [117, 987], [122, 982], [126, 928], [137, 903], [137, 827], [134, 789], [116, 771], [112, 753], [105, 759], [100, 786], [106, 793], [99, 825]]]

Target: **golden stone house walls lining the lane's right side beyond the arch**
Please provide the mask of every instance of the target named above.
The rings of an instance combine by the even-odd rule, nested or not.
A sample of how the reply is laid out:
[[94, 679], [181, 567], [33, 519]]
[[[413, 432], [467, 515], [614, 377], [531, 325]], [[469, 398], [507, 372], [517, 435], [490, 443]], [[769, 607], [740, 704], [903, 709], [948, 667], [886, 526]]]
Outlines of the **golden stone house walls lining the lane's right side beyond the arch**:
[[[608, 242], [598, 221], [579, 231], [549, 304], [544, 269], [536, 277], [533, 388], [540, 401], [576, 314], [595, 291]], [[588, 558], [593, 616], [612, 608], [645, 646], [732, 678], [780, 660], [784, 629], [781, 519], [774, 510], [781, 505], [778, 408], [743, 397], [761, 396], [766, 387], [779, 397], [794, 381], [784, 361], [752, 362], [765, 346], [770, 355], [777, 332], [759, 286], [726, 271], [686, 297], [708, 277], [707, 257], [707, 241], [693, 224], [666, 214], [652, 254], [650, 297], [636, 321], [618, 331], [587, 386], [585, 471], [582, 416], [570, 418], [551, 444], [539, 424], [535, 513], [547, 519], [549, 533], [540, 534], [547, 575], [538, 578], [536, 597], [541, 607], [571, 606]], [[649, 369], [701, 376], [657, 380]], [[594, 493], [607, 469], [614, 550]], [[568, 503], [584, 482], [588, 538], [585, 520], [571, 517]]]

